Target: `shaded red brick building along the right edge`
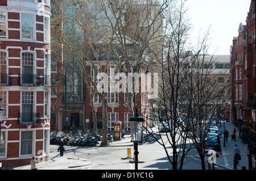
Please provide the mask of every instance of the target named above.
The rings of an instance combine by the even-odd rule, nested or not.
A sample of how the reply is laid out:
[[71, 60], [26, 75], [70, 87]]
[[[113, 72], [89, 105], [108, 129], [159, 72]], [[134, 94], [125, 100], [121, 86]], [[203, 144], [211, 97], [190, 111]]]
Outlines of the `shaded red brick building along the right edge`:
[[255, 1], [251, 0], [246, 25], [240, 23], [231, 53], [232, 122], [243, 142], [255, 153]]

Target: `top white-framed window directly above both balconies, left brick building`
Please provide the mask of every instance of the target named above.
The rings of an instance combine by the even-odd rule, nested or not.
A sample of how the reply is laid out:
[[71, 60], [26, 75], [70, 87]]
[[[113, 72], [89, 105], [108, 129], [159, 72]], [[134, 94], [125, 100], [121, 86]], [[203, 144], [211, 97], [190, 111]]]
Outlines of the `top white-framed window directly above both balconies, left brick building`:
[[21, 14], [21, 27], [22, 27], [22, 39], [34, 39], [33, 27], [34, 20], [33, 15]]

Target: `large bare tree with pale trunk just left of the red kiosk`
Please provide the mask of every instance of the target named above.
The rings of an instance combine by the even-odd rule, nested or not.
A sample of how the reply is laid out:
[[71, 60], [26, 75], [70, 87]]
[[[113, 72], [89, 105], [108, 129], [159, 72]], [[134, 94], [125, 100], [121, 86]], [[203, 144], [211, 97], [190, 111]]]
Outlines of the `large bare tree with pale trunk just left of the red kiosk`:
[[[115, 72], [123, 62], [142, 60], [145, 49], [156, 37], [159, 20], [167, 2], [155, 1], [83, 1], [69, 0], [54, 7], [52, 35], [64, 45], [80, 65], [81, 77], [90, 92], [101, 99], [102, 134], [101, 145], [108, 145], [107, 134], [107, 93], [98, 91], [98, 79], [93, 79], [88, 67], [95, 73], [108, 73], [110, 65]], [[57, 3], [56, 3], [57, 5]], [[61, 26], [63, 24], [63, 26]], [[154, 30], [154, 31], [152, 31]], [[61, 32], [61, 33], [60, 33]], [[63, 35], [63, 36], [61, 36]], [[127, 52], [136, 51], [136, 57], [127, 57]], [[95, 91], [95, 92], [94, 92]], [[91, 100], [91, 103], [92, 100]], [[92, 107], [93, 109], [93, 107]], [[132, 109], [130, 109], [132, 110]], [[95, 110], [92, 110], [94, 113]], [[95, 115], [93, 116], [95, 119]]]

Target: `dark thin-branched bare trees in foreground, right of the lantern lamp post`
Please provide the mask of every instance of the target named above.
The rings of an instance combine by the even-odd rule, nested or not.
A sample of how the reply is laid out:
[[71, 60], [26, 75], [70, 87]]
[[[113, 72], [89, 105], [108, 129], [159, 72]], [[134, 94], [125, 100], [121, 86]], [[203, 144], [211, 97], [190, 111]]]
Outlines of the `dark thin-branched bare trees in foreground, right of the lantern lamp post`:
[[215, 61], [212, 57], [206, 58], [209, 32], [198, 40], [196, 48], [191, 46], [191, 24], [183, 3], [174, 1], [164, 13], [163, 56], [155, 56], [159, 65], [155, 71], [160, 74], [160, 83], [159, 98], [152, 103], [160, 125], [158, 132], [162, 127], [164, 133], [159, 134], [153, 129], [148, 131], [152, 136], [159, 134], [158, 143], [166, 150], [172, 169], [182, 169], [187, 161], [185, 156], [193, 148], [197, 149], [202, 169], [205, 169], [205, 138], [216, 117], [216, 105], [220, 104], [225, 86], [220, 88], [218, 85], [222, 73], [210, 76]]

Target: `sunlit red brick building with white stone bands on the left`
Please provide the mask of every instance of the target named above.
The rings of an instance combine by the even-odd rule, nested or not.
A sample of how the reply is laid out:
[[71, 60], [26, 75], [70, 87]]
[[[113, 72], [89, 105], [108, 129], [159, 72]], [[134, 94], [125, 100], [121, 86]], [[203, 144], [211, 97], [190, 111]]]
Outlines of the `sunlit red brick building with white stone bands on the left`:
[[50, 1], [0, 1], [0, 162], [27, 165], [49, 157]]

